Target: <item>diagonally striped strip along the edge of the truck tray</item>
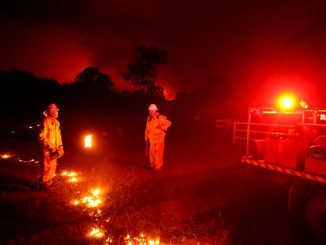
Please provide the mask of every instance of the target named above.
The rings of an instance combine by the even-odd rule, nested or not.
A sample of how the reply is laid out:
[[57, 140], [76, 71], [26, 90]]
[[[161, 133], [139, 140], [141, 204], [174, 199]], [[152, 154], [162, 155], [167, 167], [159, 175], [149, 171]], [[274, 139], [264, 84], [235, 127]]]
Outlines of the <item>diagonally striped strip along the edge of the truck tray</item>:
[[256, 167], [260, 167], [260, 168], [265, 168], [271, 171], [276, 171], [276, 172], [280, 172], [280, 173], [284, 173], [287, 175], [291, 175], [294, 177], [299, 177], [299, 178], [303, 178], [306, 180], [310, 180], [310, 181], [315, 181], [321, 184], [326, 184], [326, 176], [322, 176], [322, 175], [317, 175], [317, 174], [313, 174], [313, 173], [309, 173], [309, 172], [305, 172], [305, 171], [299, 171], [299, 170], [295, 170], [295, 169], [291, 169], [291, 168], [286, 168], [280, 165], [275, 165], [272, 163], [266, 163], [264, 160], [253, 160], [249, 157], [242, 157], [242, 162], [245, 164], [249, 164], [249, 165], [253, 165]]

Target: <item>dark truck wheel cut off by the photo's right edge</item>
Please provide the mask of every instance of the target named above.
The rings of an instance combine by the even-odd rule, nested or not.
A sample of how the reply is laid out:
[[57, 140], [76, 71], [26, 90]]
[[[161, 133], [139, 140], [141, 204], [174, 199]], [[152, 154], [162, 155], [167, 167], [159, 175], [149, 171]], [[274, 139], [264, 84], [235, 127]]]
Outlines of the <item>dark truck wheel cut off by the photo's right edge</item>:
[[326, 241], [326, 195], [314, 195], [305, 207], [305, 222], [312, 234]]

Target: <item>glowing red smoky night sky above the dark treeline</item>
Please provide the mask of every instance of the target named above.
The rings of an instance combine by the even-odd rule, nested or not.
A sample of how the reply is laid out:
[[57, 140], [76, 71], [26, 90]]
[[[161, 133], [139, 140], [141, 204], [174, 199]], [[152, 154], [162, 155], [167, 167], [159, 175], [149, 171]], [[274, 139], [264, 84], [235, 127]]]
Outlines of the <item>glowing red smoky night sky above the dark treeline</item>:
[[131, 90], [121, 73], [137, 45], [153, 44], [169, 54], [157, 80], [168, 98], [223, 80], [255, 105], [283, 90], [318, 103], [325, 12], [321, 0], [12, 1], [0, 10], [0, 70], [64, 83], [94, 66]]

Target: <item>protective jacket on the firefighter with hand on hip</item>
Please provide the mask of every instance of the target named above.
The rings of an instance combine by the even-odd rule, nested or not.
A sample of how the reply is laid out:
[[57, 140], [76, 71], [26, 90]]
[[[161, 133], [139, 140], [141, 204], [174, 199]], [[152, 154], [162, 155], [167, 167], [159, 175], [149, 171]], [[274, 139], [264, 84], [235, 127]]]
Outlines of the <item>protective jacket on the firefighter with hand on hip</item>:
[[[156, 129], [156, 126], [160, 126], [161, 129]], [[150, 143], [164, 142], [166, 136], [165, 131], [171, 125], [171, 121], [166, 116], [156, 113], [156, 115], [148, 116], [145, 130], [145, 141], [149, 140]]]

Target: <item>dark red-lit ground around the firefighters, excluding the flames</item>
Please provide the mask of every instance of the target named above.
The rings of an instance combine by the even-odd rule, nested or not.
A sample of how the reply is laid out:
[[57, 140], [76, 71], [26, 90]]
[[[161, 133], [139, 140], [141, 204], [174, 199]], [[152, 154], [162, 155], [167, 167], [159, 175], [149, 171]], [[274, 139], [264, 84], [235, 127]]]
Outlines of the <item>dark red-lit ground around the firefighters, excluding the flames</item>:
[[[56, 178], [37, 189], [36, 163], [0, 162], [2, 244], [124, 244], [126, 234], [160, 237], [161, 244], [321, 244], [299, 216], [288, 212], [293, 179], [241, 163], [243, 142], [232, 144], [215, 129], [171, 130], [164, 168], [148, 170], [143, 132], [112, 129], [94, 147], [67, 144], [58, 173], [75, 171], [79, 181]], [[66, 136], [67, 137], [67, 136]], [[38, 160], [37, 145], [1, 140], [2, 150]], [[17, 155], [19, 155], [17, 153]], [[102, 191], [98, 208], [72, 204], [88, 189]], [[101, 226], [102, 225], [102, 226]], [[94, 226], [103, 238], [87, 234]]]

